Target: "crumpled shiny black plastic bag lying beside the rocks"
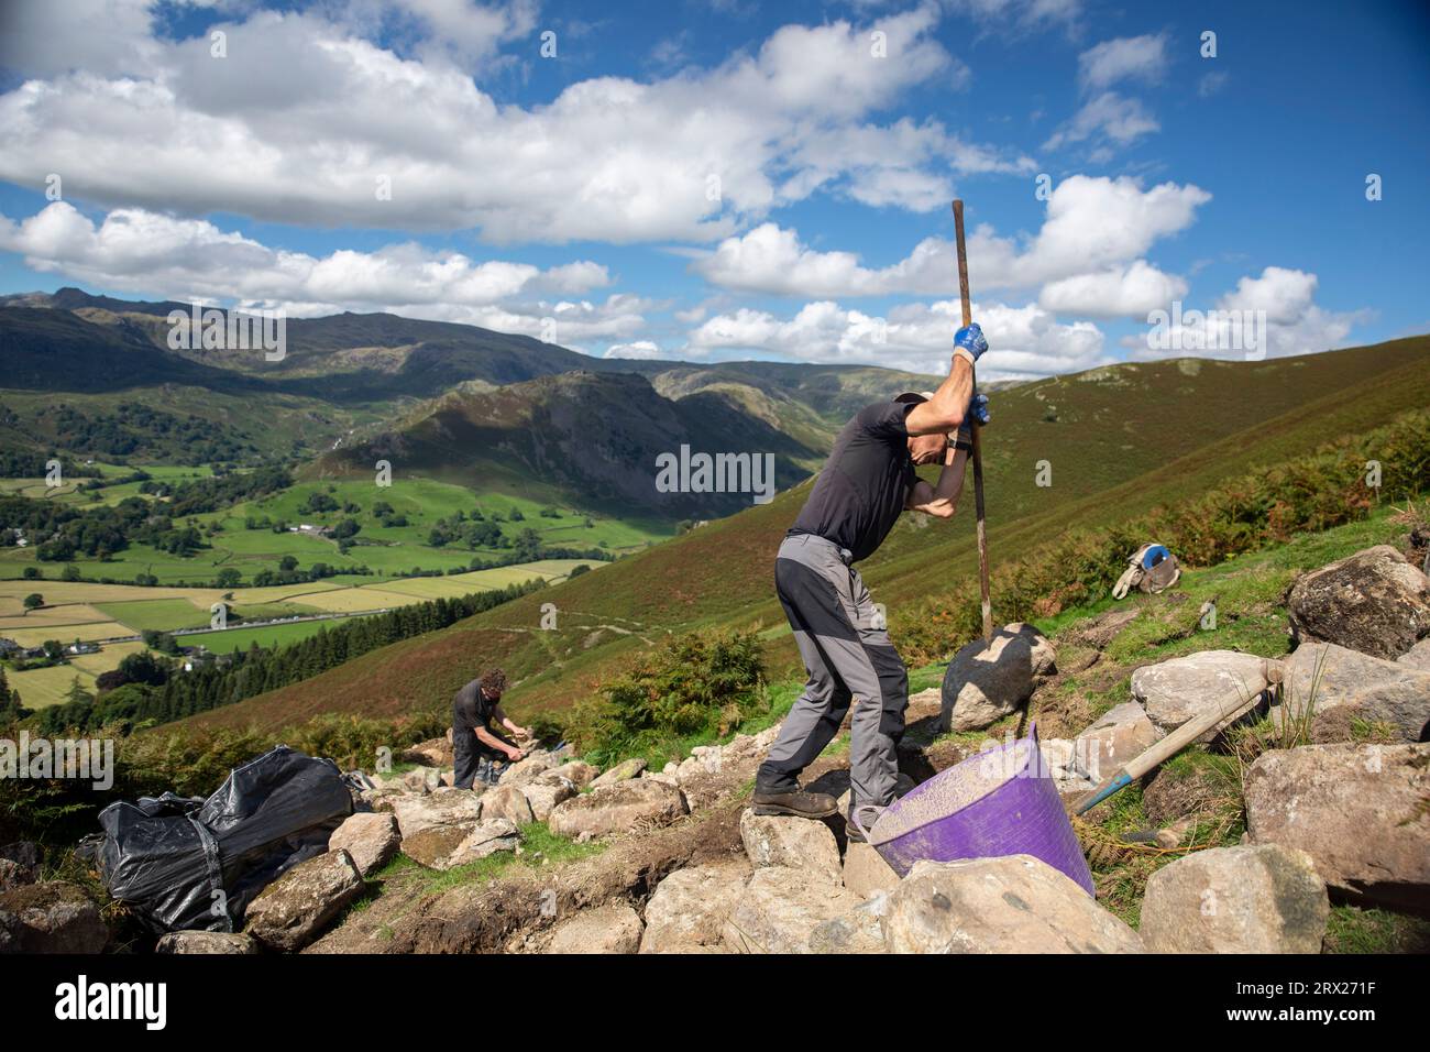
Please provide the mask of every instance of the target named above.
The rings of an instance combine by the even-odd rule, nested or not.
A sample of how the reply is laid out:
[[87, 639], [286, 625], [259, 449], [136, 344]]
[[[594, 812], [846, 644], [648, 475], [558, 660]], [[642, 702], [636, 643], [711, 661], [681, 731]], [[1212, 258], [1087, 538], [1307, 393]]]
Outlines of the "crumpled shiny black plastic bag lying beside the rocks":
[[100, 875], [153, 930], [232, 932], [259, 892], [327, 850], [352, 810], [332, 760], [279, 746], [207, 800], [164, 793], [106, 807]]

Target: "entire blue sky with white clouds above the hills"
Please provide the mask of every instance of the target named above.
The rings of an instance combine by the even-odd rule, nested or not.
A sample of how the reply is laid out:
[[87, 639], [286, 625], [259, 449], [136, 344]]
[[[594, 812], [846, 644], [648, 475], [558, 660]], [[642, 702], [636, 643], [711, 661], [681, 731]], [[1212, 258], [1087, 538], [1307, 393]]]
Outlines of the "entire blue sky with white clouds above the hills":
[[[21, 0], [0, 19], [4, 292], [941, 372], [958, 195], [981, 375], [1241, 356], [1224, 336], [1251, 316], [1271, 355], [1430, 331], [1420, 3]], [[1221, 316], [1148, 345], [1173, 303]]]

